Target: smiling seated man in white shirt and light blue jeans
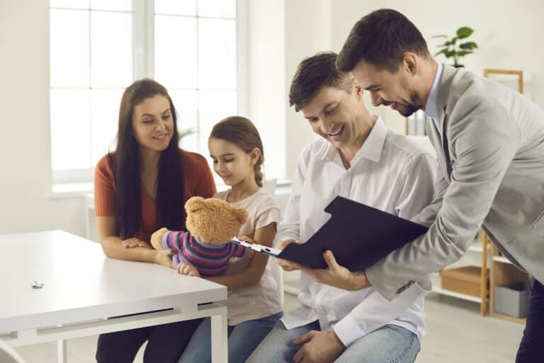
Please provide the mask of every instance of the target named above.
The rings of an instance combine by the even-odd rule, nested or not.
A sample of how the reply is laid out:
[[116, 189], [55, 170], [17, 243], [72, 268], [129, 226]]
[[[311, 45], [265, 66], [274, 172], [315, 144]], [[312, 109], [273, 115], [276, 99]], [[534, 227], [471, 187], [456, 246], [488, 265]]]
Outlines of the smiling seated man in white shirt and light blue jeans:
[[[433, 198], [434, 157], [370, 115], [363, 89], [351, 74], [338, 72], [335, 61], [333, 52], [303, 60], [290, 87], [290, 105], [322, 138], [300, 153], [278, 248], [308, 240], [338, 195], [407, 219]], [[361, 233], [372, 228], [358, 223]], [[335, 272], [342, 269], [330, 251], [324, 257]], [[305, 271], [311, 270], [302, 267], [300, 308], [276, 324], [248, 362], [414, 362], [425, 332], [429, 277], [388, 301], [371, 287], [346, 291], [319, 284]]]

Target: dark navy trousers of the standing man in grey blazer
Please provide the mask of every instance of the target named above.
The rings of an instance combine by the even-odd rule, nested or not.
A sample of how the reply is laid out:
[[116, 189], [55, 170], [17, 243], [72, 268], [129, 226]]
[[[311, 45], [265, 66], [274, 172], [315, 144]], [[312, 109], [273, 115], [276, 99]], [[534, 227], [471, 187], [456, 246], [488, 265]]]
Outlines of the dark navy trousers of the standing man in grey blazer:
[[542, 362], [542, 337], [544, 336], [544, 286], [533, 279], [523, 338], [519, 345], [516, 363]]

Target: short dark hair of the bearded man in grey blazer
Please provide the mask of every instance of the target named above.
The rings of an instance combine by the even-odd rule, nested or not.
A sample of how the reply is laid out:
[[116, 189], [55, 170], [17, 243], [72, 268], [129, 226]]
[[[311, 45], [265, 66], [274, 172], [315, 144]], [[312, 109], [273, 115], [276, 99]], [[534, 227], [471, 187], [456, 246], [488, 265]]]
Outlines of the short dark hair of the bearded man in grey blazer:
[[360, 60], [395, 73], [406, 52], [430, 57], [423, 35], [412, 21], [392, 9], [369, 13], [355, 23], [336, 59], [341, 72], [351, 72]]

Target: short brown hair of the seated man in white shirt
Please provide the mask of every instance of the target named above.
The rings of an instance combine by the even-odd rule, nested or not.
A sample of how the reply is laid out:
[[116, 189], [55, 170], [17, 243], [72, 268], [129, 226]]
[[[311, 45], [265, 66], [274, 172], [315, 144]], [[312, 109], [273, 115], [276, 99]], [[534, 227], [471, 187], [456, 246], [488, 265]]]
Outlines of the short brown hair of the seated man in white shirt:
[[351, 93], [352, 82], [351, 74], [336, 69], [335, 52], [319, 52], [298, 65], [289, 89], [289, 106], [295, 105], [295, 111], [300, 111], [322, 86]]

